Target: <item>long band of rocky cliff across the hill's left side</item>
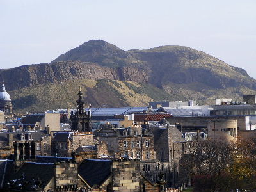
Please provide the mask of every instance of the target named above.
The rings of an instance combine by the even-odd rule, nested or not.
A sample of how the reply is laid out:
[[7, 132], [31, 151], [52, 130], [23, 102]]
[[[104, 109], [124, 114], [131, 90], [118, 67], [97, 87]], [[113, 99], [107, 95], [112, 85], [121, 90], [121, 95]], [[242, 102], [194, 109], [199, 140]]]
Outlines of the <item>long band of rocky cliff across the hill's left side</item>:
[[104, 67], [97, 65], [97, 63], [81, 61], [24, 65], [1, 70], [0, 76], [3, 77], [8, 90], [47, 83], [60, 83], [70, 79], [112, 79], [148, 83], [147, 72], [136, 67]]

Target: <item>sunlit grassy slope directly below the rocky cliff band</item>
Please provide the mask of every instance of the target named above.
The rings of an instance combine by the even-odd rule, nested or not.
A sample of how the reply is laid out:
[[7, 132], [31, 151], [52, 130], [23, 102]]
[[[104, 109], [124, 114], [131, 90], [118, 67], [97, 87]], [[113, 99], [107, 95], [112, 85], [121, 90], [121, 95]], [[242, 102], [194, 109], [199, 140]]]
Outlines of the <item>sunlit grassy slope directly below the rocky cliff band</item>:
[[105, 79], [63, 81], [21, 88], [10, 93], [15, 112], [45, 111], [47, 109], [76, 108], [77, 91], [82, 87], [86, 106], [99, 107], [147, 106], [153, 100], [168, 100], [172, 96], [150, 85], [131, 81]]

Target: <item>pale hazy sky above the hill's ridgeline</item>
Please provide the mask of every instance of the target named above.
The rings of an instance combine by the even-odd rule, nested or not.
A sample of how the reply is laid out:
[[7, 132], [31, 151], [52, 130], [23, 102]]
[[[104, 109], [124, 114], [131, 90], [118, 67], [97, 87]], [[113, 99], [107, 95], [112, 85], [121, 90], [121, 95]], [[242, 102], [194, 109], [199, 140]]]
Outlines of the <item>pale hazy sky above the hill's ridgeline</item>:
[[184, 45], [256, 79], [256, 1], [0, 0], [0, 68], [49, 63], [92, 39]]

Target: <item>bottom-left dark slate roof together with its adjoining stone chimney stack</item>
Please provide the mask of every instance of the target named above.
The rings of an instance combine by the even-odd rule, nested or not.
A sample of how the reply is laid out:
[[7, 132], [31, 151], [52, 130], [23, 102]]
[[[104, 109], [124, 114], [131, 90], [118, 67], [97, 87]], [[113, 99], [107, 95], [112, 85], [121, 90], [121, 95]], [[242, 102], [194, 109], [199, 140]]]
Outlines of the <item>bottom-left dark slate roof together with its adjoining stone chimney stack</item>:
[[2, 191], [77, 191], [77, 163], [26, 162], [4, 183]]

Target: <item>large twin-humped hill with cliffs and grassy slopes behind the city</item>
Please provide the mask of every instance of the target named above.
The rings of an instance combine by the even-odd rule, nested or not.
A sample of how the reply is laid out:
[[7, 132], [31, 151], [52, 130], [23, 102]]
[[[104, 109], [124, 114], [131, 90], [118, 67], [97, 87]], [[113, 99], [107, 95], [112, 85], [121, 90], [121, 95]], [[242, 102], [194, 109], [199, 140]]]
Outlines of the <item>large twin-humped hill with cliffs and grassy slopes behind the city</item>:
[[[102, 40], [90, 40], [49, 64], [0, 70], [0, 76], [17, 111], [49, 109], [47, 103], [55, 109], [71, 108], [74, 88], [92, 82], [93, 87], [84, 85], [84, 99], [93, 106], [188, 99], [211, 104], [216, 98], [256, 93], [256, 81], [245, 70], [202, 51], [181, 46], [124, 51]], [[34, 104], [26, 104], [32, 100]]]

